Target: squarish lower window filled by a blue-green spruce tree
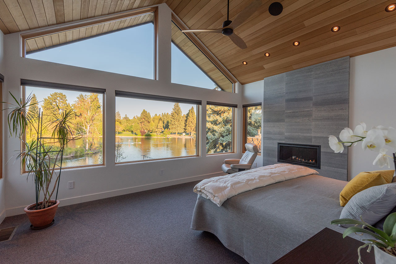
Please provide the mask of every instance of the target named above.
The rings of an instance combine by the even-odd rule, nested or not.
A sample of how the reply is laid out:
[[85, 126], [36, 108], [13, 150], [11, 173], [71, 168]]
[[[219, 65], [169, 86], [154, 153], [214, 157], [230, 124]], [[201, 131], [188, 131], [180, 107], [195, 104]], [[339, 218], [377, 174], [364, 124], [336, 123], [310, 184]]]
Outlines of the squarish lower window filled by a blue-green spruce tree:
[[236, 105], [206, 105], [206, 154], [233, 152]]

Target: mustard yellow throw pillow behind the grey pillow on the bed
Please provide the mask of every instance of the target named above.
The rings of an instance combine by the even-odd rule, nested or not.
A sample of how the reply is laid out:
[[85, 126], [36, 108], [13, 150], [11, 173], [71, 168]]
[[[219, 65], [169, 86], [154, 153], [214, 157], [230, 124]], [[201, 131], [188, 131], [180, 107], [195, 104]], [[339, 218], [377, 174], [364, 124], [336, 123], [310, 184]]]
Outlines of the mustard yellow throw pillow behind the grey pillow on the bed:
[[350, 180], [340, 193], [340, 205], [345, 206], [346, 203], [358, 192], [367, 188], [387, 184], [392, 182], [394, 170], [382, 171], [365, 171], [361, 172], [352, 180]]

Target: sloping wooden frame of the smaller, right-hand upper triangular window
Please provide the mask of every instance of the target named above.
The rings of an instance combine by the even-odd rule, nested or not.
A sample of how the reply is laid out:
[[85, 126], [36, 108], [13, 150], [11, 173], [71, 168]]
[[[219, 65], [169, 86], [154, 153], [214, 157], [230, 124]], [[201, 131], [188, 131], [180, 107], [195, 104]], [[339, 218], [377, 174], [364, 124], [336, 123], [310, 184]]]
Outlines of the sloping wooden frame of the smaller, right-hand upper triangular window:
[[[177, 17], [177, 15], [175, 13], [172, 12], [171, 15], [171, 22], [175, 23], [175, 25], [180, 29], [180, 30], [185, 30], [185, 29], [189, 29], [185, 23], [183, 23], [183, 21], [181, 21], [181, 19], [179, 17]], [[222, 74], [224, 74], [224, 76], [230, 80], [230, 82], [232, 83], [232, 93], [238, 93], [237, 91], [237, 83], [238, 80], [236, 80], [236, 78], [234, 76], [232, 76], [232, 74], [227, 70], [227, 68], [225, 68], [225, 66], [223, 66], [223, 64], [220, 63], [220, 61], [213, 55], [213, 53], [211, 53], [207, 47], [204, 46], [204, 44], [202, 44], [202, 42], [195, 36], [195, 34], [190, 33], [190, 32], [183, 32], [187, 38], [192, 42], [192, 44], [194, 44], [202, 53], [204, 53], [204, 55], [209, 59], [209, 61], [211, 63], [213, 63], [213, 65], [216, 66], [216, 68], [218, 68], [220, 70], [220, 72]], [[175, 45], [176, 47], [178, 47], [177, 45]], [[178, 47], [179, 48], [179, 47]], [[180, 49], [180, 48], [179, 48]], [[187, 56], [188, 57], [188, 56]], [[188, 57], [190, 59], [190, 57]], [[193, 61], [194, 63], [194, 61]], [[195, 64], [195, 63], [194, 63]], [[198, 68], [200, 68], [198, 66]], [[204, 72], [204, 71], [203, 71]], [[206, 72], [204, 72], [206, 74]], [[206, 74], [207, 75], [207, 74]], [[211, 79], [211, 78], [209, 78]], [[205, 89], [205, 88], [204, 88]], [[206, 151], [205, 151], [206, 152]]]

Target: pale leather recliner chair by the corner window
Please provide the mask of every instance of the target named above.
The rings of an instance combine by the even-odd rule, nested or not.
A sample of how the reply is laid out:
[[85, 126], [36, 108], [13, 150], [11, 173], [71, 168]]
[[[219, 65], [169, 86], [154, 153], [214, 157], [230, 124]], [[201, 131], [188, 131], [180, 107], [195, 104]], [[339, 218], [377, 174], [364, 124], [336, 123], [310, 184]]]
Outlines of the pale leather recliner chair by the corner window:
[[221, 165], [221, 169], [225, 173], [231, 174], [251, 168], [251, 165], [253, 165], [253, 161], [257, 157], [257, 152], [259, 152], [259, 148], [257, 148], [256, 144], [253, 143], [246, 143], [245, 148], [246, 148], [246, 152], [240, 160], [238, 159], [224, 160], [224, 164]]

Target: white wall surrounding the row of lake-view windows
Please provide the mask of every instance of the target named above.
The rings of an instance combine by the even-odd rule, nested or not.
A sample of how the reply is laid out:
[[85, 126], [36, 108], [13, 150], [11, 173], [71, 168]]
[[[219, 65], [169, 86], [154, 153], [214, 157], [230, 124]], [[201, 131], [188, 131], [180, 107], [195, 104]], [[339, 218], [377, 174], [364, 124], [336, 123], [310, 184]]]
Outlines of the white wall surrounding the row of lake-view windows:
[[[206, 115], [202, 115], [202, 137], [200, 147], [202, 155], [194, 158], [175, 160], [149, 161], [126, 165], [115, 165], [115, 95], [114, 90], [134, 91], [155, 95], [166, 95], [187, 99], [202, 100], [202, 109], [206, 108], [206, 101], [238, 104], [238, 123], [241, 119], [242, 96], [238, 93], [227, 93], [210, 89], [191, 87], [187, 85], [171, 84], [169, 61], [171, 58], [171, 9], [166, 4], [159, 5], [159, 40], [158, 63], [159, 80], [148, 80], [122, 74], [103, 72], [61, 65], [46, 61], [27, 59], [19, 56], [20, 34], [13, 33], [4, 36], [7, 68], [3, 73], [7, 82], [4, 94], [11, 91], [20, 94], [20, 79], [56, 82], [62, 84], [82, 85], [106, 89], [106, 136], [105, 136], [105, 167], [91, 167], [85, 169], [69, 169], [62, 172], [59, 186], [60, 205], [106, 198], [120, 194], [158, 188], [193, 180], [213, 177], [221, 172], [221, 164], [226, 158], [240, 158], [241, 129], [238, 126], [236, 152], [234, 154], [219, 154], [206, 156]], [[10, 96], [4, 98], [11, 101]], [[205, 113], [203, 111], [203, 113]], [[5, 160], [9, 159], [14, 150], [19, 148], [17, 139], [9, 139], [5, 143]], [[159, 176], [159, 170], [165, 169], [165, 175]], [[32, 180], [26, 181], [21, 175], [19, 164], [5, 165], [6, 184], [5, 204], [7, 216], [23, 213], [23, 207], [34, 202], [34, 187]], [[74, 181], [74, 189], [67, 188], [68, 181]]]

